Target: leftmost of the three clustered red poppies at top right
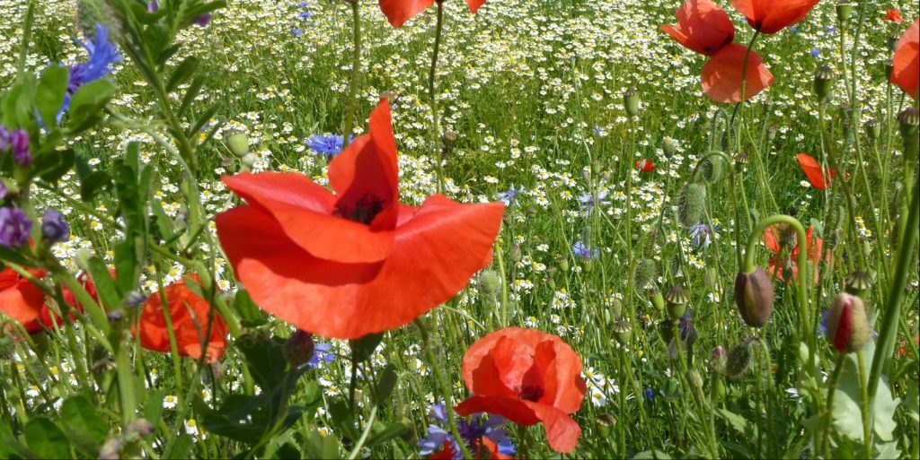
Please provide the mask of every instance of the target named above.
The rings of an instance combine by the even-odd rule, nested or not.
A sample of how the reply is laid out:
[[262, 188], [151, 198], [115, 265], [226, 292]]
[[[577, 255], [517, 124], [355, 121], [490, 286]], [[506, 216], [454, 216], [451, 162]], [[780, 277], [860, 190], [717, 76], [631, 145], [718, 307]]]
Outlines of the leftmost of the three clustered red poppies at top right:
[[661, 30], [689, 50], [712, 56], [735, 39], [729, 14], [709, 0], [687, 0], [677, 9], [677, 26]]

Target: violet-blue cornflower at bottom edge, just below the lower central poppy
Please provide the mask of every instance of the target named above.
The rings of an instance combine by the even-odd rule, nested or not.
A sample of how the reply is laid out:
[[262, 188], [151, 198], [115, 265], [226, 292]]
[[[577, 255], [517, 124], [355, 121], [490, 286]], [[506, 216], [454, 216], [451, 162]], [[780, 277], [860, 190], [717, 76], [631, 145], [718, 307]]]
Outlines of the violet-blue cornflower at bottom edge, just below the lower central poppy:
[[[431, 407], [431, 418], [438, 421], [441, 426], [435, 424], [428, 426], [428, 435], [418, 444], [421, 448], [419, 454], [431, 455], [435, 452], [440, 452], [444, 443], [451, 443], [454, 450], [454, 459], [462, 459], [463, 451], [460, 450], [460, 444], [457, 443], [451, 433], [443, 428], [443, 426], [447, 425], [447, 408], [443, 402]], [[457, 420], [457, 432], [460, 432], [460, 437], [463, 438], [466, 446], [472, 451], [476, 451], [477, 443], [483, 437], [486, 437], [498, 445], [499, 454], [513, 455], [515, 449], [512, 439], [508, 436], [508, 432], [499, 428], [507, 422], [504, 417], [499, 415], [491, 415], [489, 419], [485, 419], [484, 414], [475, 413]]]

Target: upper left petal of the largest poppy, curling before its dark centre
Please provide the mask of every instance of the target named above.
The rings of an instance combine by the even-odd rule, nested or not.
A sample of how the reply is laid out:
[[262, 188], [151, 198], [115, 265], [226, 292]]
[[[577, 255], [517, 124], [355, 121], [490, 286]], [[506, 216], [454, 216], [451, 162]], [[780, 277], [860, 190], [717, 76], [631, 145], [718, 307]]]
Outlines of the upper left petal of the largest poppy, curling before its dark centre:
[[288, 238], [320, 259], [379, 262], [393, 247], [392, 232], [333, 216], [335, 197], [303, 174], [243, 173], [224, 176], [224, 184], [270, 214]]

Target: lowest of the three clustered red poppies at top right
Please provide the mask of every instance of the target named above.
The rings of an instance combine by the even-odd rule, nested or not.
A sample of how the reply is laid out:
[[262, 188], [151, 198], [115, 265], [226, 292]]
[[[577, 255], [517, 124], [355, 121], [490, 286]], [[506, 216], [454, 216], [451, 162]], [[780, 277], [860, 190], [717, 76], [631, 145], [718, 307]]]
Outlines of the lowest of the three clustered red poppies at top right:
[[[745, 68], [744, 56], [747, 56]], [[730, 44], [709, 59], [700, 73], [703, 92], [716, 102], [735, 103], [742, 101], [742, 71], [744, 79], [744, 100], [760, 94], [776, 79], [766, 68], [764, 60], [756, 51], [748, 53], [744, 45]]]

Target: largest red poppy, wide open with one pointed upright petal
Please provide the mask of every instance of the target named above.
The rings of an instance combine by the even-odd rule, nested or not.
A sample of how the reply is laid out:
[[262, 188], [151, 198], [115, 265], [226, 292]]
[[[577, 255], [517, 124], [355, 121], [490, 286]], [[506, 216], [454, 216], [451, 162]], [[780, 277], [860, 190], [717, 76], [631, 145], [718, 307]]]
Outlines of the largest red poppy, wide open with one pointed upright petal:
[[237, 174], [247, 201], [216, 218], [236, 277], [261, 309], [324, 337], [407, 324], [491, 263], [504, 206], [442, 195], [399, 204], [396, 141], [384, 99], [370, 133], [329, 163], [333, 195], [303, 174]]

